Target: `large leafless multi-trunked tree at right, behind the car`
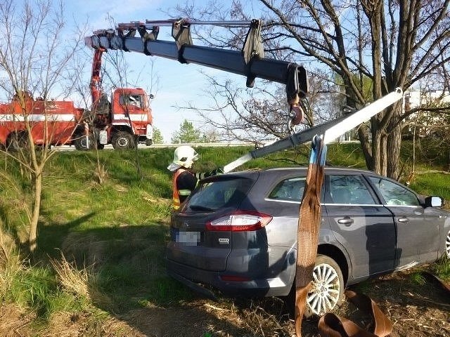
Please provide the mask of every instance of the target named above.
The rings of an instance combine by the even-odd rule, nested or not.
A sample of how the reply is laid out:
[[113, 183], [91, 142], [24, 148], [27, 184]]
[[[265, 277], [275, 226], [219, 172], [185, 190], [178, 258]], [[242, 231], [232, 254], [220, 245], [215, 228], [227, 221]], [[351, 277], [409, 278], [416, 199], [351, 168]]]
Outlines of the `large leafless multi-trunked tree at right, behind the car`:
[[[267, 22], [264, 49], [275, 58], [320, 62], [342, 79], [347, 105], [368, 103], [363, 78], [372, 81], [376, 100], [401, 87], [404, 90], [439, 72], [448, 74], [450, 59], [449, 0], [259, 0]], [[217, 11], [214, 10], [217, 6]], [[231, 8], [178, 8], [195, 19], [248, 19], [247, 8], [233, 1]], [[196, 31], [200, 42], [240, 48], [242, 31], [227, 34], [217, 27]], [[356, 76], [355, 76], [356, 75]], [[447, 80], [440, 84], [443, 88]], [[409, 112], [401, 103], [359, 128], [359, 139], [369, 169], [399, 178], [401, 128]], [[389, 152], [389, 155], [388, 155]]]

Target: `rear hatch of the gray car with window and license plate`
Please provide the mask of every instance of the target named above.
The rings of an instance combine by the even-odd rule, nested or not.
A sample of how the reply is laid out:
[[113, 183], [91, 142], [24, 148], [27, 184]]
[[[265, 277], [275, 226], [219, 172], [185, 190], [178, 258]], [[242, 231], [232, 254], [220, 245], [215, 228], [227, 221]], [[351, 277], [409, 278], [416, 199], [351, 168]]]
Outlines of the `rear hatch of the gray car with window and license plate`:
[[201, 270], [224, 271], [231, 253], [231, 230], [207, 230], [207, 224], [236, 211], [256, 177], [235, 173], [202, 180], [172, 215], [167, 258]]

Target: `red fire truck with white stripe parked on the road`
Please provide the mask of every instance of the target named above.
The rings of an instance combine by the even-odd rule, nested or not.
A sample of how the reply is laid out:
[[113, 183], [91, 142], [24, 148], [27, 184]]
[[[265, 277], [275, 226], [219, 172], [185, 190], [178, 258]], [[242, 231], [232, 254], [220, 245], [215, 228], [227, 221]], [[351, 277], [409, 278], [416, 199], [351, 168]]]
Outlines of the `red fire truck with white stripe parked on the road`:
[[0, 145], [9, 150], [25, 147], [31, 134], [35, 145], [75, 145], [77, 150], [112, 144], [131, 149], [151, 145], [153, 118], [149, 98], [142, 88], [116, 88], [108, 99], [101, 88], [101, 48], [94, 51], [91, 74], [91, 110], [71, 101], [34, 99], [16, 93], [10, 103], [0, 103]]

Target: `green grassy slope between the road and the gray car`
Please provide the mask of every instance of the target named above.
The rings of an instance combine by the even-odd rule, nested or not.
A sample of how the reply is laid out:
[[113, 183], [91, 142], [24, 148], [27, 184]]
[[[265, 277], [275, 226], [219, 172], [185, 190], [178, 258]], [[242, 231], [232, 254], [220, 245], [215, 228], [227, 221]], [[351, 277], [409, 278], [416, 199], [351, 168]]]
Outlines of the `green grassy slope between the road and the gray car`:
[[[165, 272], [172, 198], [172, 174], [166, 167], [173, 150], [139, 150], [140, 175], [136, 152], [101, 151], [107, 173], [102, 185], [95, 179], [95, 152], [57, 153], [44, 175], [34, 265], [16, 271], [9, 284], [11, 291], [0, 291], [4, 294], [1, 300], [31, 308], [44, 319], [56, 310], [82, 310], [86, 302], [63, 290], [49, 263], [49, 258], [58, 259], [61, 251], [78, 268], [91, 268], [94, 277], [89, 279], [89, 287], [97, 308], [121, 312], [195, 298]], [[199, 147], [201, 157], [195, 164], [199, 171], [212, 170], [250, 150], [252, 147]], [[250, 161], [241, 169], [307, 164], [308, 158], [309, 147], [302, 146]], [[327, 159], [335, 166], [365, 168], [358, 144], [332, 145]], [[20, 249], [27, 223], [21, 205], [30, 201], [30, 182], [17, 164], [2, 160], [0, 225]], [[424, 169], [435, 169], [425, 164]], [[450, 200], [449, 186], [450, 175], [439, 173], [420, 174], [411, 185], [420, 194]], [[439, 275], [448, 274], [449, 265], [443, 263]]]

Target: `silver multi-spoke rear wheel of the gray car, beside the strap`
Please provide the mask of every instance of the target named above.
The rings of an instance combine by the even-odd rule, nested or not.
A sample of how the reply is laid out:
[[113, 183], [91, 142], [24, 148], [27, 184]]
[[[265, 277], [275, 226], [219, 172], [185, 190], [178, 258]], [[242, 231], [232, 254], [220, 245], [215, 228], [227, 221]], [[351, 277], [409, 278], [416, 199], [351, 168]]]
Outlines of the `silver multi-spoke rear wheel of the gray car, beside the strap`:
[[320, 316], [333, 310], [342, 298], [343, 283], [338, 264], [328, 256], [318, 256], [307, 296], [309, 314]]

